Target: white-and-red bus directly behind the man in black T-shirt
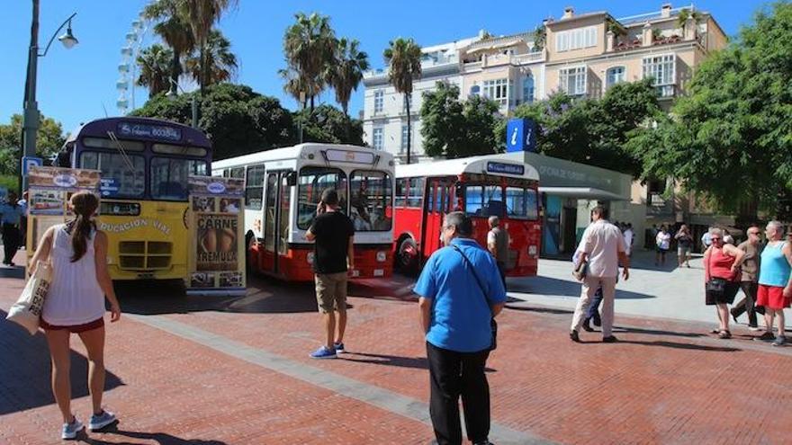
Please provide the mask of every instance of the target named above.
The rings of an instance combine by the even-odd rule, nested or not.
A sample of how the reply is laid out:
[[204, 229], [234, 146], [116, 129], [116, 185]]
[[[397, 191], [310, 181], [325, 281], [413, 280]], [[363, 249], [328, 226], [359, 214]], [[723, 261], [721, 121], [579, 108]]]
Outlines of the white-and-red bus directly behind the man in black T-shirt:
[[338, 190], [355, 224], [354, 278], [392, 273], [393, 157], [366, 147], [301, 144], [212, 163], [212, 174], [245, 178], [247, 264], [288, 281], [313, 280], [305, 239], [321, 192]]

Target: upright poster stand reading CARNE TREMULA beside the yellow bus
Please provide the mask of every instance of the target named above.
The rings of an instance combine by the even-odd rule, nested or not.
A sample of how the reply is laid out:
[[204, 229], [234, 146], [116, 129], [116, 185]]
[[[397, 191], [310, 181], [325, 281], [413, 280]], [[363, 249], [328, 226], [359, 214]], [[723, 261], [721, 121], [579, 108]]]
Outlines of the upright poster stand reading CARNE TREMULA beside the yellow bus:
[[190, 176], [190, 274], [187, 292], [245, 294], [245, 181]]

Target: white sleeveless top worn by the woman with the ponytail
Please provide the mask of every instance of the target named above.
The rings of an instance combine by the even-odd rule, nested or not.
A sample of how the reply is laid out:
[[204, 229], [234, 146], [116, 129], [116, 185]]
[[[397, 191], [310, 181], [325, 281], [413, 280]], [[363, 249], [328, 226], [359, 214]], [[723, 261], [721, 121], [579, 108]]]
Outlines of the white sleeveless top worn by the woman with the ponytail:
[[49, 261], [52, 282], [41, 317], [49, 325], [84, 325], [104, 316], [104, 292], [96, 280], [95, 231], [88, 238], [85, 255], [71, 262], [74, 250], [66, 225], [55, 227]]

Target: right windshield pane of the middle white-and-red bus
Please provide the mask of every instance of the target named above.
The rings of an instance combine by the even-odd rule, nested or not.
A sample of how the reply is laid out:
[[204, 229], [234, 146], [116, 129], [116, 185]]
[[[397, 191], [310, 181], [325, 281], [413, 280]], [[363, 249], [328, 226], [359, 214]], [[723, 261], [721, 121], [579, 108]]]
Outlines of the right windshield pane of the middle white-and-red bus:
[[391, 230], [392, 179], [385, 172], [356, 170], [349, 177], [349, 216], [359, 232]]

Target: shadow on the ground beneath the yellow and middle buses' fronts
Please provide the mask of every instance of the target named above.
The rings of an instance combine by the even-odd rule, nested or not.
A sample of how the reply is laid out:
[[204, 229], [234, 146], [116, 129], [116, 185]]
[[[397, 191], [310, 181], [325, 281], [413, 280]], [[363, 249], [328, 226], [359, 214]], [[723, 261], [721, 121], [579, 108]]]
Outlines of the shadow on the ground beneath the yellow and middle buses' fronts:
[[145, 316], [203, 311], [252, 314], [317, 311], [312, 283], [285, 283], [261, 277], [248, 279], [247, 294], [242, 297], [186, 295], [181, 283], [144, 281], [116, 283], [116, 292], [124, 312]]

